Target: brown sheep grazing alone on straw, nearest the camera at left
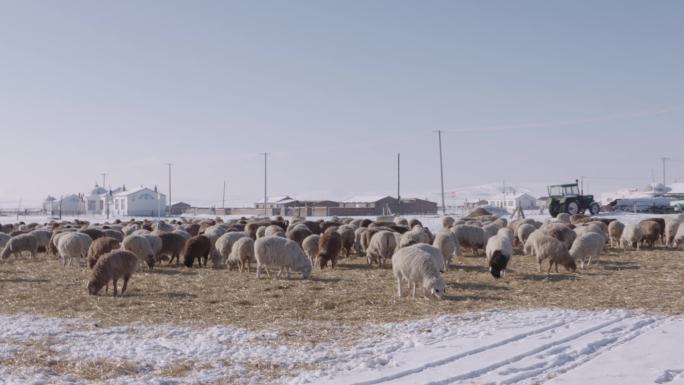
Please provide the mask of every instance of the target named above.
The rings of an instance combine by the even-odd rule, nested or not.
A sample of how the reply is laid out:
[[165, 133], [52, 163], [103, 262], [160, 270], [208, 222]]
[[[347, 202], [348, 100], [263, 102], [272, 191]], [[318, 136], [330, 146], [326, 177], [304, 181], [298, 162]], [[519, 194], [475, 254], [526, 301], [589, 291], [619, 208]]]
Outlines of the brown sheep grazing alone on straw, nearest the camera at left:
[[88, 293], [97, 295], [103, 286], [108, 286], [109, 281], [113, 282], [114, 296], [117, 296], [117, 282], [123, 278], [124, 284], [121, 287], [121, 294], [126, 292], [128, 280], [138, 267], [138, 257], [126, 250], [116, 250], [103, 255], [93, 267], [88, 282]]

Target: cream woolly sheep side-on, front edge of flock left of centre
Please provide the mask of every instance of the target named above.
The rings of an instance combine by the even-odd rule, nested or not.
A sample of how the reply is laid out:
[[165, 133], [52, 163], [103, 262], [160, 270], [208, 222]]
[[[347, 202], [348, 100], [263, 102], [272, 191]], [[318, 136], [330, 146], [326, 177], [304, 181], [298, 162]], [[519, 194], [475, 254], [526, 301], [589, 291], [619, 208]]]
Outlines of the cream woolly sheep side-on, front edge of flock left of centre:
[[[333, 232], [337, 234], [336, 232]], [[326, 234], [330, 234], [327, 232]], [[339, 237], [339, 234], [338, 234]], [[254, 243], [254, 259], [257, 262], [257, 279], [261, 278], [261, 269], [266, 270], [266, 275], [270, 278], [271, 274], [268, 267], [280, 268], [278, 277], [283, 271], [296, 271], [302, 274], [302, 279], [306, 279], [311, 274], [311, 261], [304, 254], [304, 250], [295, 241], [281, 237], [264, 237], [257, 239]]]

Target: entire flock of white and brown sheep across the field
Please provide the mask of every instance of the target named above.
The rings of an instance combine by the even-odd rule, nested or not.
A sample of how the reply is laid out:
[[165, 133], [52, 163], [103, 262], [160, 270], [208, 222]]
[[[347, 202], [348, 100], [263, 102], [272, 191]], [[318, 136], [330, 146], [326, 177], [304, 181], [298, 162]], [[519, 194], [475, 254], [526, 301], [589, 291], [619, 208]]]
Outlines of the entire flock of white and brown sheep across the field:
[[227, 267], [250, 271], [256, 263], [256, 277], [269, 277], [277, 269], [289, 278], [292, 272], [308, 278], [313, 266], [335, 268], [341, 256], [365, 256], [369, 265], [379, 268], [391, 263], [397, 292], [403, 286], [415, 297], [441, 298], [445, 293], [442, 274], [462, 250], [474, 255], [484, 251], [491, 275], [500, 278], [513, 257], [515, 247], [539, 263], [548, 260], [547, 273], [555, 266], [575, 271], [611, 247], [639, 249], [642, 244], [654, 247], [684, 246], [684, 216], [652, 218], [638, 224], [622, 224], [613, 219], [560, 214], [541, 223], [532, 219], [508, 223], [491, 215], [469, 216], [461, 220], [442, 218], [442, 228], [433, 234], [416, 219], [395, 218], [393, 222], [370, 219], [333, 219], [310, 221], [282, 217], [241, 219], [224, 222], [220, 218], [159, 221], [136, 221], [90, 224], [84, 221], [51, 222], [0, 226], [0, 260], [39, 250], [61, 259], [64, 265], [74, 260], [92, 269], [88, 291], [97, 294], [113, 283], [117, 295], [140, 268], [153, 269], [165, 262], [182, 262], [199, 267], [211, 261], [214, 268]]

